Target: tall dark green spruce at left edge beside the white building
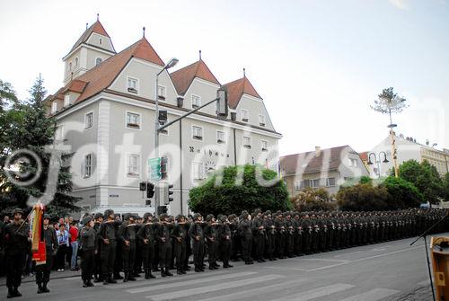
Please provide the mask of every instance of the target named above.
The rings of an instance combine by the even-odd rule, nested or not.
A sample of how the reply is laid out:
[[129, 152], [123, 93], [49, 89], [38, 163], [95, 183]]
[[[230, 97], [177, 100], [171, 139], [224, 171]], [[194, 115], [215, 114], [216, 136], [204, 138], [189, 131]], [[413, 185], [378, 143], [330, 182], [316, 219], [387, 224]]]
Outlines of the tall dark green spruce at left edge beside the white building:
[[[42, 78], [37, 78], [31, 87], [30, 99], [18, 107], [22, 118], [18, 120], [14, 127], [7, 130], [6, 136], [8, 139], [6, 144], [9, 150], [30, 150], [39, 158], [36, 160], [33, 156], [22, 153], [22, 159], [18, 162], [19, 169], [22, 174], [28, 175], [22, 177], [20, 181], [30, 180], [36, 174], [39, 177], [37, 181], [33, 181], [28, 186], [4, 181], [2, 191], [4, 201], [0, 204], [2, 211], [9, 211], [14, 207], [26, 208], [26, 203], [30, 196], [40, 198], [46, 190], [51, 156], [48, 150], [46, 150], [46, 146], [50, 146], [53, 143], [56, 130], [56, 120], [48, 117], [43, 102], [46, 93]], [[72, 191], [72, 175], [70, 166], [66, 164], [70, 156], [71, 154], [63, 154], [59, 158], [62, 164], [57, 176], [57, 193], [53, 201], [48, 205], [48, 213], [53, 216], [79, 210], [75, 205], [75, 202], [79, 199], [70, 195]], [[41, 162], [41, 173], [38, 173], [38, 161]]]

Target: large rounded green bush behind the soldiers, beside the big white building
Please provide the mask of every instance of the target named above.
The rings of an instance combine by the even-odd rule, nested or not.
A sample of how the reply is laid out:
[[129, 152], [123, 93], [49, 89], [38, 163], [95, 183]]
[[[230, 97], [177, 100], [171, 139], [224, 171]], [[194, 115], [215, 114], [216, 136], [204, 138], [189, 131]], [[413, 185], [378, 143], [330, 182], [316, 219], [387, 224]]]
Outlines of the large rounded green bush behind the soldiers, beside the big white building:
[[[258, 173], [271, 185], [260, 185]], [[287, 210], [290, 208], [286, 183], [277, 173], [260, 165], [228, 166], [212, 173], [189, 191], [189, 208], [205, 214], [232, 214], [242, 210]]]

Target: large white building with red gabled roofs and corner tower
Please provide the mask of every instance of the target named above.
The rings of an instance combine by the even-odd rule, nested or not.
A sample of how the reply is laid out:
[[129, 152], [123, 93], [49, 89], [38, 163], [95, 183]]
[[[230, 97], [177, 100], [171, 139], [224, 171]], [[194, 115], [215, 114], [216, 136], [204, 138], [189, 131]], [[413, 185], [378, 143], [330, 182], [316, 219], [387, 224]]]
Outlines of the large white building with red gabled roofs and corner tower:
[[[145, 205], [138, 183], [149, 180], [147, 161], [154, 157], [155, 75], [163, 59], [145, 36], [117, 53], [97, 21], [63, 61], [64, 87], [48, 97], [48, 113], [57, 119], [57, 138], [75, 152], [70, 164], [74, 194], [83, 198], [78, 205], [84, 211], [153, 212], [154, 199]], [[160, 110], [173, 120], [215, 99], [220, 87], [228, 92], [226, 120], [217, 119], [211, 104], [160, 135], [175, 191], [172, 214], [186, 214], [189, 189], [220, 166], [258, 163], [277, 170], [282, 136], [245, 75], [222, 85], [201, 58], [172, 74], [165, 70]]]

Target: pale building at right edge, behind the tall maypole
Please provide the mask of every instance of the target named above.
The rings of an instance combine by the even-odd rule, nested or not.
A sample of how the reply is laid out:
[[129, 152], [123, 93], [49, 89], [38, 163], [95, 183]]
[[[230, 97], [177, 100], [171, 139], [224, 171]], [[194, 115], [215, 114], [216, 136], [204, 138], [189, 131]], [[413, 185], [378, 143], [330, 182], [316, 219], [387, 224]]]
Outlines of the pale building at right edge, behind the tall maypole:
[[[441, 175], [445, 175], [445, 173], [449, 172], [449, 150], [443, 149], [439, 150], [432, 146], [422, 145], [416, 142], [415, 139], [410, 137], [395, 136], [396, 140], [396, 148], [397, 148], [397, 160], [398, 166], [401, 163], [409, 160], [416, 160], [418, 162], [423, 162], [427, 160], [429, 164], [432, 164], [436, 167], [436, 170]], [[382, 153], [384, 152], [386, 155]], [[376, 160], [374, 162], [374, 155]], [[370, 172], [371, 177], [378, 177], [379, 174], [381, 176], [390, 175], [392, 168], [394, 166], [392, 160], [392, 137], [388, 136], [381, 143], [367, 153], [370, 155], [371, 162], [373, 164], [366, 165]], [[366, 157], [366, 160], [370, 160], [369, 157]]]

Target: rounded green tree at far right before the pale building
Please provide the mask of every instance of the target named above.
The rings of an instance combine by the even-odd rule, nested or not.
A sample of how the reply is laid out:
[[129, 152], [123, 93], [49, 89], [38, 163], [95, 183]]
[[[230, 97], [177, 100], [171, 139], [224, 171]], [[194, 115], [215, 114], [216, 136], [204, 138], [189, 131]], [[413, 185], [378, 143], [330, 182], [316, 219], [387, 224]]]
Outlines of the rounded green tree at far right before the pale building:
[[416, 160], [409, 160], [399, 167], [400, 177], [411, 182], [422, 193], [424, 201], [437, 204], [441, 199], [445, 199], [445, 188], [443, 180], [436, 167], [426, 160], [418, 163]]

